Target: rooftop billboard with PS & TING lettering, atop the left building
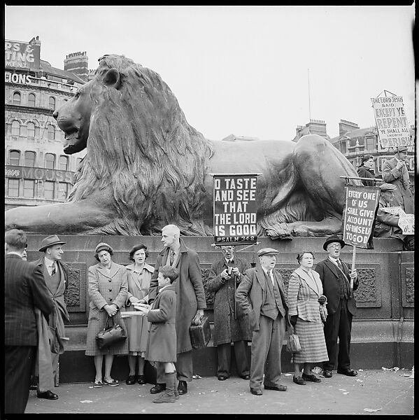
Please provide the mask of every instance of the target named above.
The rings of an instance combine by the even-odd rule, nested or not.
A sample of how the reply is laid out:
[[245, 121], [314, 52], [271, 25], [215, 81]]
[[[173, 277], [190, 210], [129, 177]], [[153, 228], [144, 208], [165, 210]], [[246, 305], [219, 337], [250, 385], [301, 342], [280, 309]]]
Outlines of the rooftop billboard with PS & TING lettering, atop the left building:
[[39, 69], [41, 45], [29, 42], [4, 41], [4, 66], [15, 69]]

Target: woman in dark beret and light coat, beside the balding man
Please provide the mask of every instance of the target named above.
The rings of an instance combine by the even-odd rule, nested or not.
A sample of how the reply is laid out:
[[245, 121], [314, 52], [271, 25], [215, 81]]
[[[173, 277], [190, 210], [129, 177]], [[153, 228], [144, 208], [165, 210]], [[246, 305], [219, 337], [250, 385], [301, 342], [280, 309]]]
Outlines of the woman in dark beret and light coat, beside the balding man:
[[[147, 246], [140, 244], [129, 251], [129, 260], [133, 261], [127, 265], [128, 271], [128, 294], [125, 302], [127, 311], [134, 311], [134, 303], [148, 303], [148, 288], [150, 287], [151, 274], [154, 268], [145, 262], [148, 257]], [[144, 356], [147, 349], [148, 320], [146, 316], [130, 316], [125, 318], [128, 335], [128, 363], [129, 375], [125, 383], [133, 385], [137, 381], [145, 384], [144, 379]], [[138, 361], [139, 370], [136, 375], [136, 364]]]

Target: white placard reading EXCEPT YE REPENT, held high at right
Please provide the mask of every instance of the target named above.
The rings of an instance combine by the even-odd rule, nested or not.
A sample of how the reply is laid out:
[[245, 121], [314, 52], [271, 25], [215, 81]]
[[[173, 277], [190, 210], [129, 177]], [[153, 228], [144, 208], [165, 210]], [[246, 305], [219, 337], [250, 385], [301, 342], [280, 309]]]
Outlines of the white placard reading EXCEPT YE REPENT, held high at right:
[[411, 146], [403, 97], [371, 98], [381, 147]]

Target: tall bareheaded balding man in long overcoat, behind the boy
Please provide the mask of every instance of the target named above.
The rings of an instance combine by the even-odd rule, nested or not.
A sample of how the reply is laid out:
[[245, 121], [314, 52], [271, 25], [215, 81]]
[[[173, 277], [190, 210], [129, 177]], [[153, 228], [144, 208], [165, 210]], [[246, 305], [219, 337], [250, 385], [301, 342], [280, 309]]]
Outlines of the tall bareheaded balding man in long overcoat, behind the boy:
[[[189, 327], [192, 323], [198, 325], [206, 300], [202, 284], [201, 268], [196, 251], [187, 248], [180, 239], [180, 230], [176, 225], [166, 225], [162, 229], [164, 249], [157, 256], [155, 271], [152, 274], [148, 291], [148, 303], [151, 304], [157, 296], [159, 282], [157, 276], [161, 265], [170, 265], [179, 270], [179, 278], [173, 283], [176, 290], [176, 337], [177, 361], [176, 372], [179, 380], [178, 391], [187, 393], [187, 382], [192, 381], [192, 343]], [[164, 372], [157, 370], [157, 384], [150, 389], [150, 393], [164, 390]]]

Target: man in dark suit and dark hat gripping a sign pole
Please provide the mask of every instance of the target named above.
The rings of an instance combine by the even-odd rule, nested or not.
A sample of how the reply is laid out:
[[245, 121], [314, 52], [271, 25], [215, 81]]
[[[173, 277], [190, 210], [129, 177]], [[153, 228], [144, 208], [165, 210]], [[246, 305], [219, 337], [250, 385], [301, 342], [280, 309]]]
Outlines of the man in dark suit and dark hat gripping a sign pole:
[[[325, 339], [329, 360], [323, 363], [323, 376], [332, 377], [336, 365], [336, 350], [339, 337], [339, 355], [337, 372], [347, 376], [356, 376], [357, 372], [350, 369], [350, 330], [352, 317], [356, 312], [356, 302], [353, 290], [358, 287], [357, 272], [352, 272], [339, 257], [345, 242], [332, 235], [323, 244], [323, 249], [329, 256], [318, 262], [315, 271], [320, 274], [323, 294], [327, 297], [327, 319], [325, 323]], [[351, 288], [352, 283], [352, 288]]]

